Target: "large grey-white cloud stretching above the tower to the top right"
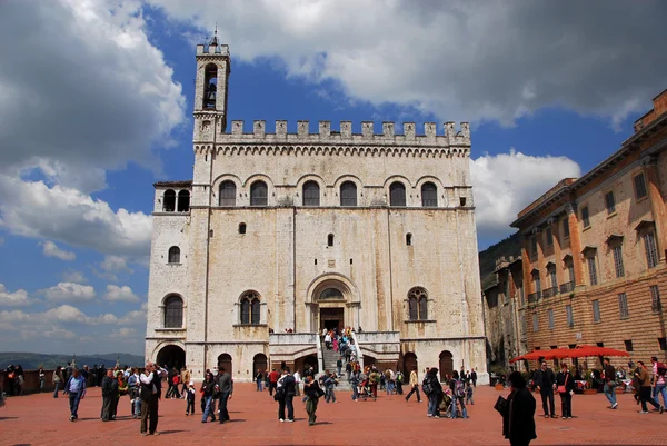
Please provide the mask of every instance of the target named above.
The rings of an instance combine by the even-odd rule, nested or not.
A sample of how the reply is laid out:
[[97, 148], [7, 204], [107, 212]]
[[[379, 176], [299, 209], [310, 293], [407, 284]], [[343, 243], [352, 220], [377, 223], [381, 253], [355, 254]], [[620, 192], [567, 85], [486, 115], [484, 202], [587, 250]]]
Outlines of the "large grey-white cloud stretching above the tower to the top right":
[[665, 88], [659, 0], [149, 2], [202, 33], [217, 22], [236, 60], [275, 58], [288, 76], [441, 120], [510, 125], [566, 107], [618, 122]]

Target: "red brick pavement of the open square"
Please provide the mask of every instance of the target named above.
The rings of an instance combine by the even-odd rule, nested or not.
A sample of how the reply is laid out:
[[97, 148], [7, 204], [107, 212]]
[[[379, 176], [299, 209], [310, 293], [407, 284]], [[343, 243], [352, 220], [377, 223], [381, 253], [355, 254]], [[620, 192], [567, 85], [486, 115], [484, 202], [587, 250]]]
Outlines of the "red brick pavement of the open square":
[[[99, 388], [89, 389], [81, 402], [79, 420], [68, 420], [68, 399], [54, 399], [50, 394], [9, 398], [0, 409], [0, 444], [31, 445], [508, 445], [501, 437], [501, 422], [492, 409], [498, 395], [490, 387], [480, 387], [476, 404], [469, 407], [470, 418], [431, 419], [426, 416], [426, 403], [406, 403], [401, 396], [380, 394], [377, 402], [350, 400], [349, 393], [339, 393], [338, 404], [320, 403], [318, 424], [308, 426], [307, 414], [300, 399], [295, 399], [297, 422], [277, 420], [277, 403], [266, 392], [258, 393], [250, 384], [236, 386], [229, 402], [232, 423], [201, 424], [199, 402], [196, 416], [186, 417], [186, 403], [169, 399], [160, 402], [159, 437], [139, 435], [139, 420], [129, 417], [130, 403], [123, 397], [119, 404], [119, 419], [102, 423], [99, 419], [101, 397]], [[558, 397], [557, 412], [559, 412]], [[538, 400], [537, 435], [535, 445], [665, 445], [664, 415], [637, 414], [630, 395], [619, 395], [617, 410], [607, 408], [604, 395], [579, 396], [573, 402], [570, 420], [545, 419]], [[437, 443], [434, 443], [437, 442]]]

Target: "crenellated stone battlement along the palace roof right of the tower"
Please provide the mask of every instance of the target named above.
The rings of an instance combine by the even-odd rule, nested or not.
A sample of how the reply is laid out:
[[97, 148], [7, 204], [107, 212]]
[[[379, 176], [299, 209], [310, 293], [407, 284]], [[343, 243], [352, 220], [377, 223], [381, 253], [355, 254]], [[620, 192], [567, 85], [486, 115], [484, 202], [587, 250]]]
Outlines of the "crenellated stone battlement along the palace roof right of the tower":
[[424, 131], [417, 133], [415, 122], [404, 122], [402, 133], [396, 132], [394, 122], [382, 122], [381, 133], [376, 132], [374, 122], [362, 121], [361, 133], [352, 132], [351, 121], [340, 121], [338, 130], [331, 129], [330, 121], [319, 121], [319, 131], [310, 132], [309, 121], [297, 121], [297, 132], [288, 133], [287, 121], [276, 121], [275, 132], [267, 132], [266, 121], [256, 120], [252, 132], [246, 132], [245, 122], [231, 121], [231, 132], [218, 136], [222, 143], [341, 143], [341, 145], [408, 145], [434, 147], [469, 147], [470, 126], [461, 122], [457, 129], [454, 122], [445, 122], [438, 135], [436, 122], [425, 122]]

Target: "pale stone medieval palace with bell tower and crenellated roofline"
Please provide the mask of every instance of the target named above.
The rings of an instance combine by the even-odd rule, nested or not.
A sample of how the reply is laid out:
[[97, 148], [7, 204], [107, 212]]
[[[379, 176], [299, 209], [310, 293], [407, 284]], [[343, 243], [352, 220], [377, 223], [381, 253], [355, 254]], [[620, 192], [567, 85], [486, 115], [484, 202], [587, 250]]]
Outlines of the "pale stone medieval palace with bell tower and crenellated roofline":
[[155, 185], [146, 357], [251, 380], [316, 361], [317, 334], [340, 325], [367, 363], [484, 381], [468, 125], [226, 132], [229, 73], [227, 46], [198, 46], [193, 179]]

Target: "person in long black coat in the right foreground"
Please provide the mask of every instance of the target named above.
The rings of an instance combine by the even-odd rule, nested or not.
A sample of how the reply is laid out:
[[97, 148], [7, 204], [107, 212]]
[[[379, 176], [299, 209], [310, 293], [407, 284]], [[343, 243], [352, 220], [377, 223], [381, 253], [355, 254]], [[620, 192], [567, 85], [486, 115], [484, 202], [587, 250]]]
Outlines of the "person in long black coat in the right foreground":
[[509, 375], [511, 393], [502, 409], [502, 436], [511, 446], [528, 446], [537, 438], [535, 432], [535, 398], [526, 388], [526, 379], [519, 371]]

